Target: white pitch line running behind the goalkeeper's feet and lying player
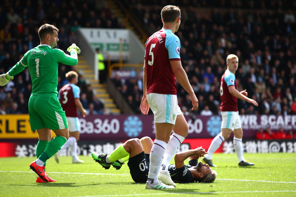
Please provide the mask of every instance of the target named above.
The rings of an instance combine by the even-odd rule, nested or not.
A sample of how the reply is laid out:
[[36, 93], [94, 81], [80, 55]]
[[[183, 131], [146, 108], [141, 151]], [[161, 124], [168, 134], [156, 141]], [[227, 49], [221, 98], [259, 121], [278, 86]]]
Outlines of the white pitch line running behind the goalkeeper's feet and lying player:
[[[33, 171], [4, 171], [0, 170], [0, 172], [20, 172], [20, 173], [31, 173]], [[79, 175], [119, 175], [119, 176], [130, 176], [130, 175], [124, 175], [124, 174], [102, 174], [102, 173], [84, 173], [84, 172], [50, 172], [50, 173], [56, 173], [56, 174], [79, 174]], [[296, 182], [286, 182], [286, 181], [269, 181], [269, 180], [244, 180], [244, 179], [222, 179], [222, 178], [216, 178], [216, 180], [234, 180], [234, 181], [252, 181], [252, 182], [265, 182], [265, 183], [292, 183], [296, 184]]]

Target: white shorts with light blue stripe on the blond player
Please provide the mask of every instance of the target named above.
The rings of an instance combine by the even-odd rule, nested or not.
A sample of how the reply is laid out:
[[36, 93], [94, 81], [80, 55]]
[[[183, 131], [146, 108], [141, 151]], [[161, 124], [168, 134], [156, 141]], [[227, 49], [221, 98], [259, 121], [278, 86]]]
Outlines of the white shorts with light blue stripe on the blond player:
[[239, 112], [221, 112], [222, 115], [222, 124], [221, 128], [229, 128], [232, 131], [234, 129], [242, 128], [242, 124], [239, 119]]

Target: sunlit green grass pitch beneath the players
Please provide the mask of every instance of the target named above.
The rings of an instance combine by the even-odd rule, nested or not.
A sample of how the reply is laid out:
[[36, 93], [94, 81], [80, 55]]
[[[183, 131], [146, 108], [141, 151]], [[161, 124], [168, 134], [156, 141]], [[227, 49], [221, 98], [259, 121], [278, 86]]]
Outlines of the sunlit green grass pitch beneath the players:
[[296, 153], [246, 154], [254, 167], [238, 167], [235, 154], [214, 154], [214, 183], [177, 184], [172, 190], [146, 190], [134, 183], [125, 164], [105, 170], [91, 156], [84, 164], [71, 157], [47, 161], [46, 172], [56, 183], [36, 183], [29, 170], [33, 157], [0, 158], [0, 196], [296, 196]]

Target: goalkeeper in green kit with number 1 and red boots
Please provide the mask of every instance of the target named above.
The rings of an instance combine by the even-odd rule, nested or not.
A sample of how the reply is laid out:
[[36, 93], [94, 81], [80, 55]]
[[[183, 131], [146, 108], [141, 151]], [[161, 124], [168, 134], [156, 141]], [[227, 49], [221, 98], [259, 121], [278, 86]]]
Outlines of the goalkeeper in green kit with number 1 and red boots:
[[[0, 75], [0, 86], [6, 85], [13, 76], [28, 66], [32, 79], [32, 94], [29, 99], [29, 117], [31, 130], [37, 130], [39, 141], [36, 147], [37, 160], [30, 164], [30, 169], [37, 173], [36, 182], [56, 182], [45, 172], [46, 160], [52, 157], [69, 138], [65, 112], [57, 98], [57, 78], [59, 62], [76, 65], [80, 49], [72, 44], [67, 51], [70, 56], [57, 46], [59, 30], [49, 24], [38, 30], [40, 45], [31, 49], [6, 74]], [[56, 137], [52, 139], [52, 131]]]

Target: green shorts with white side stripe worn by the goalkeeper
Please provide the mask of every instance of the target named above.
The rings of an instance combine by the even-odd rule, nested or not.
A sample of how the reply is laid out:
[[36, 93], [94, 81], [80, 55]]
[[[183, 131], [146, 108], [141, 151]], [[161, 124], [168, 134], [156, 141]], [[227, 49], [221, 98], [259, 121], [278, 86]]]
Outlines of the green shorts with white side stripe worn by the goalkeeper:
[[31, 95], [29, 117], [32, 131], [41, 128], [52, 130], [68, 128], [65, 112], [57, 96]]

